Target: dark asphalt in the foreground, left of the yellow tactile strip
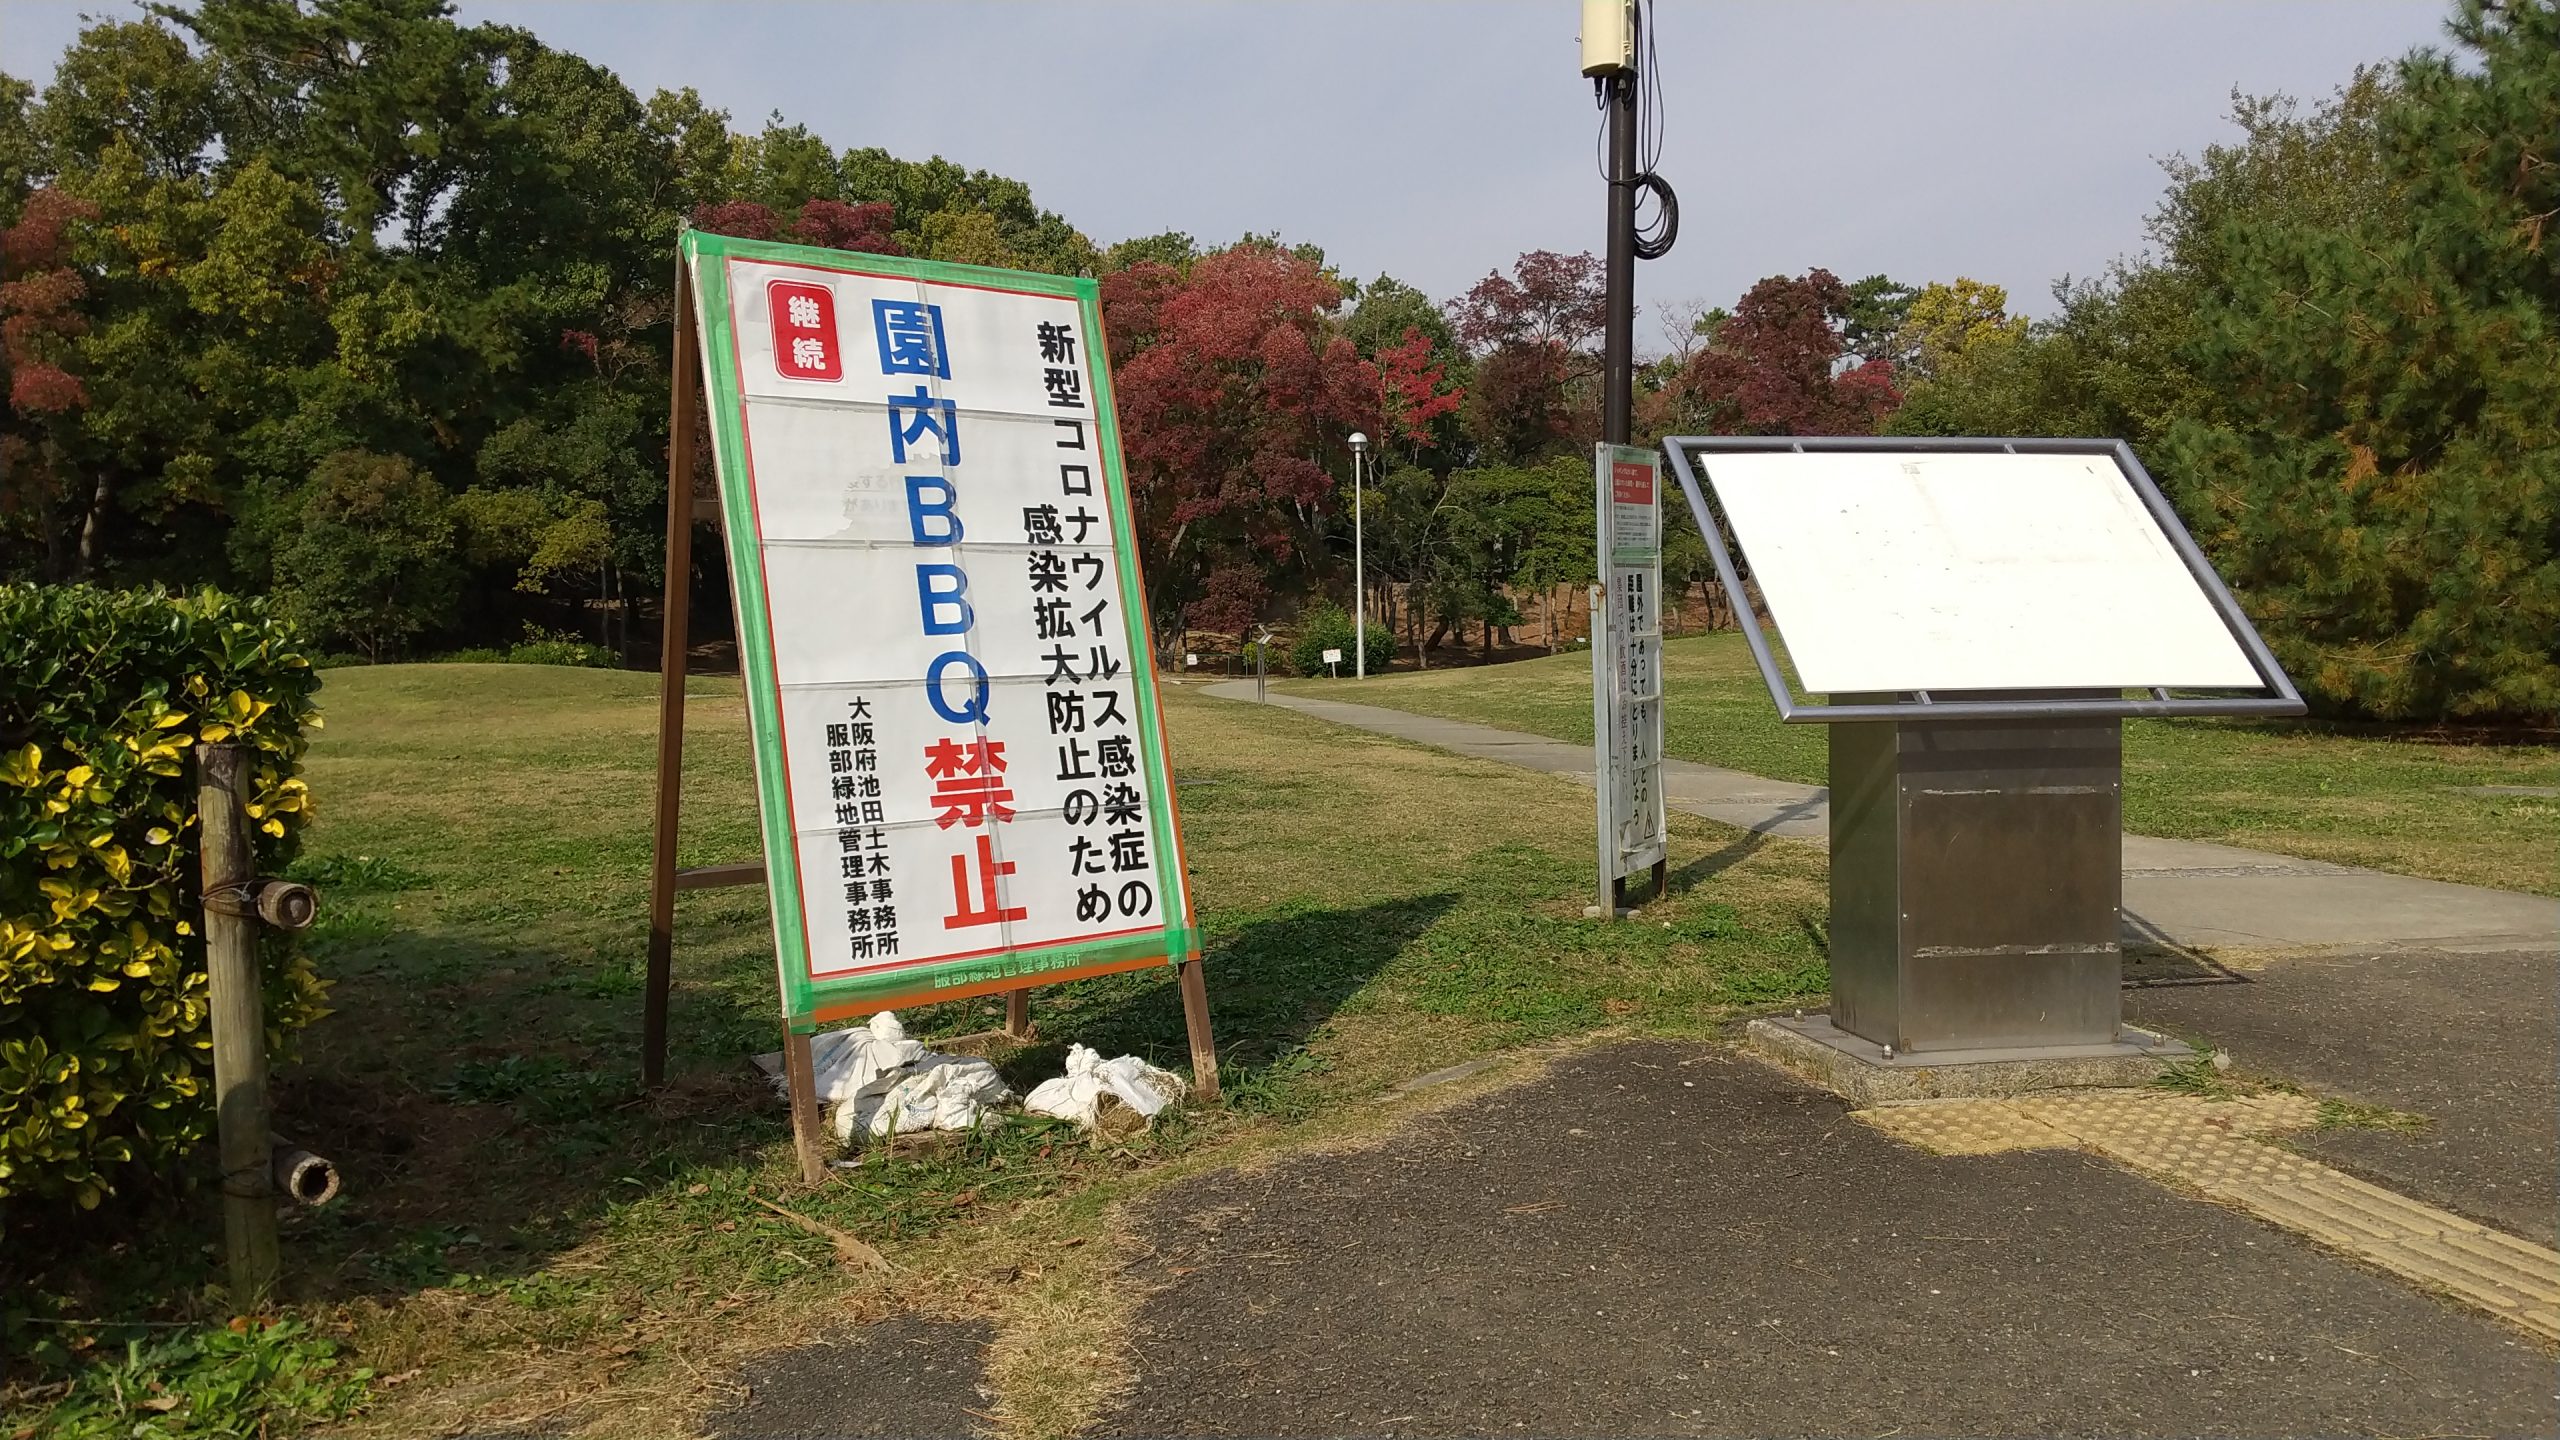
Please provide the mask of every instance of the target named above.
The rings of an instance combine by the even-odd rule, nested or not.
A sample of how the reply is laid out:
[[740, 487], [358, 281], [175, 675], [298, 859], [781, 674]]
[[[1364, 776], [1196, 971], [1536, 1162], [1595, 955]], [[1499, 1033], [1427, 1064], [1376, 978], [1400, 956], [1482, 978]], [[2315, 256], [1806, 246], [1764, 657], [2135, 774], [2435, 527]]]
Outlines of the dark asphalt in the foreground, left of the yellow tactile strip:
[[1137, 1215], [1101, 1435], [2550, 1435], [2516, 1327], [2076, 1150], [1626, 1043]]

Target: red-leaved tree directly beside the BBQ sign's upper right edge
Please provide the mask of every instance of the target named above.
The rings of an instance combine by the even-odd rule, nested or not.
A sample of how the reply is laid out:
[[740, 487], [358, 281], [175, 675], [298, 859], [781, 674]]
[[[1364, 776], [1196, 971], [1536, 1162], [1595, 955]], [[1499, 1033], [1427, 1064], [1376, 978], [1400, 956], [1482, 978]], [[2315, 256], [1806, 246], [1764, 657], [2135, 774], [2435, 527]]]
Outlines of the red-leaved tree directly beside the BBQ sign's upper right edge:
[[[1306, 256], [1247, 243], [1188, 274], [1137, 264], [1103, 277], [1121, 448], [1147, 607], [1172, 643], [1185, 623], [1242, 633], [1275, 574], [1318, 564], [1344, 436], [1380, 425], [1380, 369], [1334, 333], [1341, 290]], [[1413, 384], [1423, 384], [1411, 374]], [[1408, 387], [1405, 402], [1416, 405]], [[1421, 400], [1418, 405], [1436, 402]]]

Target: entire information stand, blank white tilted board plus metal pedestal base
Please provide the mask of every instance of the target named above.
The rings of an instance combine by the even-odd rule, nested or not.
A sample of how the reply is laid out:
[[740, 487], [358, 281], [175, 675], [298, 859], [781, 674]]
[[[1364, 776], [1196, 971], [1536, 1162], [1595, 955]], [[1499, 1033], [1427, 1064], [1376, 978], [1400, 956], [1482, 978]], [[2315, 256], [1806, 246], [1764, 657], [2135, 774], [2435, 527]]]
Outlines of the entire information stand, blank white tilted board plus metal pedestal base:
[[2132, 448], [1664, 448], [1779, 717], [1828, 725], [1830, 1015], [1779, 1025], [1879, 1063], [2156, 1053], [2122, 1027], [2122, 723], [2304, 707]]

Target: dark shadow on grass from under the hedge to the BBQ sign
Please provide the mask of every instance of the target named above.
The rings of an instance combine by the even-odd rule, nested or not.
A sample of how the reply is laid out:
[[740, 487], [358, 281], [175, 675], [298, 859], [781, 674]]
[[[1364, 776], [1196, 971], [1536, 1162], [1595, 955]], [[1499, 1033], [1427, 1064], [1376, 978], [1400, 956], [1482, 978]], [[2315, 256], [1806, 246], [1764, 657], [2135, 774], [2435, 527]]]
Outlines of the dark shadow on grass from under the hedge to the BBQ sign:
[[[614, 969], [594, 956], [343, 912], [335, 930], [320, 953], [338, 976], [333, 1012], [276, 1063], [271, 1122], [335, 1161], [346, 1189], [284, 1212], [284, 1302], [538, 1271], [617, 1202], [701, 1168], [753, 1168], [788, 1133], [745, 1066], [643, 1092], [637, 997], [612, 994]], [[686, 994], [686, 1010], [719, 1030], [760, 1020], [714, 986]], [[210, 1148], [169, 1174], [125, 1176], [95, 1212], [13, 1207], [0, 1332], [77, 1314], [120, 1343], [120, 1327], [228, 1314], [210, 1294], [223, 1235]]]

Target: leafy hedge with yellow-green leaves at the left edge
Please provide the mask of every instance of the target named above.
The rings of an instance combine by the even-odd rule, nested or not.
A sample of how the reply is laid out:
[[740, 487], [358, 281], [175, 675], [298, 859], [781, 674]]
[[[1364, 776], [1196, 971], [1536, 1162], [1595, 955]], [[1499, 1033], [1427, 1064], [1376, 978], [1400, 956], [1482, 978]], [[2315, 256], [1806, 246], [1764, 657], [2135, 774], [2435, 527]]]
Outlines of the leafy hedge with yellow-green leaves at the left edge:
[[[95, 1207], [212, 1125], [195, 764], [256, 746], [259, 874], [310, 820], [320, 676], [264, 600], [0, 584], [0, 1199]], [[323, 1015], [261, 940], [269, 1045]]]

